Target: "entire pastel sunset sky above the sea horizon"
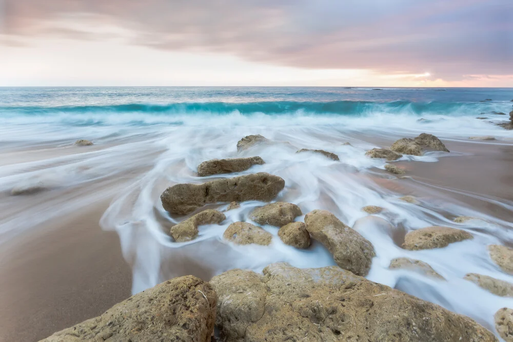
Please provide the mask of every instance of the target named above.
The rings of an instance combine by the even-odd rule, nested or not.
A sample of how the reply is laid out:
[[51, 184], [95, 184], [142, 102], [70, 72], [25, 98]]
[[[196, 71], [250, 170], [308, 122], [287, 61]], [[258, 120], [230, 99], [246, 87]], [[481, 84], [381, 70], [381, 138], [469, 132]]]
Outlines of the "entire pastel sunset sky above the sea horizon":
[[0, 0], [0, 86], [513, 87], [513, 0]]

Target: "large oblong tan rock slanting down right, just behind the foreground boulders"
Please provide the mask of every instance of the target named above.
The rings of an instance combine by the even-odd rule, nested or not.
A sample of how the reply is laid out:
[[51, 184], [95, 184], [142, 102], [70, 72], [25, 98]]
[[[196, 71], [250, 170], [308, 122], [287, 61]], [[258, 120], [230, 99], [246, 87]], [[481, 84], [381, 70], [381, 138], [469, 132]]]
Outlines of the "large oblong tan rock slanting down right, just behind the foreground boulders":
[[376, 256], [372, 244], [356, 230], [344, 225], [327, 210], [313, 210], [305, 216], [306, 230], [323, 244], [345, 270], [365, 276]]

